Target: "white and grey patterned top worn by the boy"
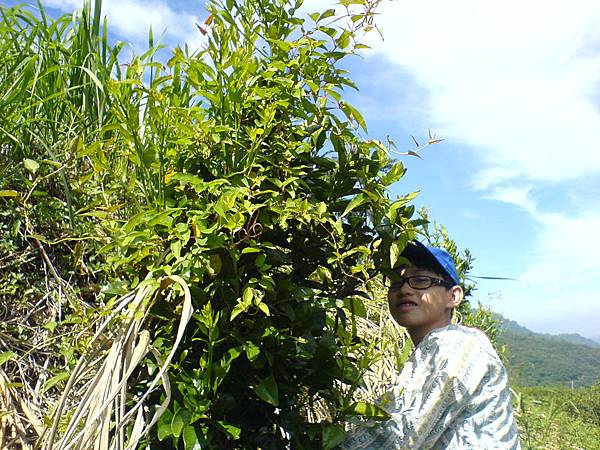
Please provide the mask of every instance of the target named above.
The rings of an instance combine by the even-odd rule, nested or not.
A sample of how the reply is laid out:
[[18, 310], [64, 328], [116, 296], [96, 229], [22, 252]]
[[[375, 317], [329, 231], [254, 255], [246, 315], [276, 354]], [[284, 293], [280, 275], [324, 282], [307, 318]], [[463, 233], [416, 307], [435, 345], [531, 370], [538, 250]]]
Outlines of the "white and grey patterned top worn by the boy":
[[341, 448], [521, 448], [506, 370], [474, 328], [429, 332], [378, 405], [391, 419], [358, 425]]

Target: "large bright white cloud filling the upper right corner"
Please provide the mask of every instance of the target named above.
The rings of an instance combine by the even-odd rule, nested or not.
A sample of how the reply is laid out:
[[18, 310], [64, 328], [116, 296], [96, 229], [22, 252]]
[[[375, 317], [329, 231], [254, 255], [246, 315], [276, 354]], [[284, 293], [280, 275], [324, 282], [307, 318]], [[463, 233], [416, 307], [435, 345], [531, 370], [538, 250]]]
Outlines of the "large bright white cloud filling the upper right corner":
[[432, 127], [477, 149], [477, 184], [600, 171], [599, 2], [397, 1], [380, 12], [385, 41], [371, 44], [429, 90]]

